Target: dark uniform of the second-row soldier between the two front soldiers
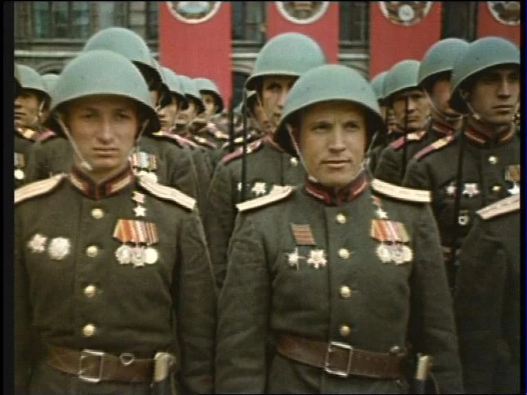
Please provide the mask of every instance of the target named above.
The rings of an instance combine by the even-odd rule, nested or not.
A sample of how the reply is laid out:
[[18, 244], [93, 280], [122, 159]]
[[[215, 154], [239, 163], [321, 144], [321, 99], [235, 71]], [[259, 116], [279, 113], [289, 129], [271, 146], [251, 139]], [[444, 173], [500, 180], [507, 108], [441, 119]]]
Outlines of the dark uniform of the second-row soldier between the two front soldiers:
[[[270, 139], [255, 141], [246, 156], [246, 198], [266, 195], [276, 185], [296, 185], [303, 181], [304, 169], [298, 159], [283, 152]], [[242, 189], [243, 152], [225, 156], [216, 167], [207, 195], [205, 233], [218, 287], [226, 273], [229, 239], [234, 229]]]

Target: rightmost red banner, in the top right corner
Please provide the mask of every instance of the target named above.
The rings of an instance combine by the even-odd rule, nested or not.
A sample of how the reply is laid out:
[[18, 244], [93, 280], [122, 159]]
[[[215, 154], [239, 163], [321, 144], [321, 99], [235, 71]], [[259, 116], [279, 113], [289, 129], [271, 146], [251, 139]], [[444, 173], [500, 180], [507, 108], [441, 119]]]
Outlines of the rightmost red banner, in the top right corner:
[[493, 5], [491, 10], [489, 3], [515, 3], [515, 1], [480, 1], [478, 9], [478, 38], [498, 36], [507, 38], [519, 46], [522, 36], [520, 25], [508, 24], [519, 20], [519, 5], [517, 5], [517, 10], [507, 10], [505, 5], [497, 4]]

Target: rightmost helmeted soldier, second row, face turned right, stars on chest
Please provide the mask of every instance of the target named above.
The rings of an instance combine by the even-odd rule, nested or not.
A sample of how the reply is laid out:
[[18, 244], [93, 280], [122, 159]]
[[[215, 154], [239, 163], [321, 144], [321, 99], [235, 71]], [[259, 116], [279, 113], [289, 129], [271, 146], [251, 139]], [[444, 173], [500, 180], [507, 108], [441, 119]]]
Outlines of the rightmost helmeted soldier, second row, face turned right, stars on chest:
[[476, 211], [519, 193], [519, 139], [513, 128], [520, 94], [519, 49], [504, 38], [476, 40], [456, 59], [451, 83], [450, 106], [468, 113], [467, 127], [416, 156], [403, 185], [432, 193], [454, 289], [455, 253]]

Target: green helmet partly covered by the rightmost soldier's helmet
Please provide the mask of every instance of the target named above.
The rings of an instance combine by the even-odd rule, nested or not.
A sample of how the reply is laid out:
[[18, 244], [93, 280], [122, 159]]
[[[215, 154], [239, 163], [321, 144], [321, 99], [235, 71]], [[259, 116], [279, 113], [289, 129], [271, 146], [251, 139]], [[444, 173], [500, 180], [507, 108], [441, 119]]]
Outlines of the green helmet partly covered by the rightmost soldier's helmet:
[[421, 65], [417, 82], [425, 89], [430, 88], [431, 77], [446, 71], [452, 71], [456, 58], [469, 46], [469, 43], [460, 38], [445, 38], [438, 41], [426, 51]]

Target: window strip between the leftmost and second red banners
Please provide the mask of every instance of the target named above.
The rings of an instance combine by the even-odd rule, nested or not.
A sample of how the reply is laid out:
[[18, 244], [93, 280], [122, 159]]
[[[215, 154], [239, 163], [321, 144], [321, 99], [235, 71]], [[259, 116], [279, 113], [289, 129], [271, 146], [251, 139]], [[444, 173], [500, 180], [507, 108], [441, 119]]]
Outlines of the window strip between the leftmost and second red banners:
[[266, 1], [232, 1], [231, 7], [233, 40], [263, 43]]

